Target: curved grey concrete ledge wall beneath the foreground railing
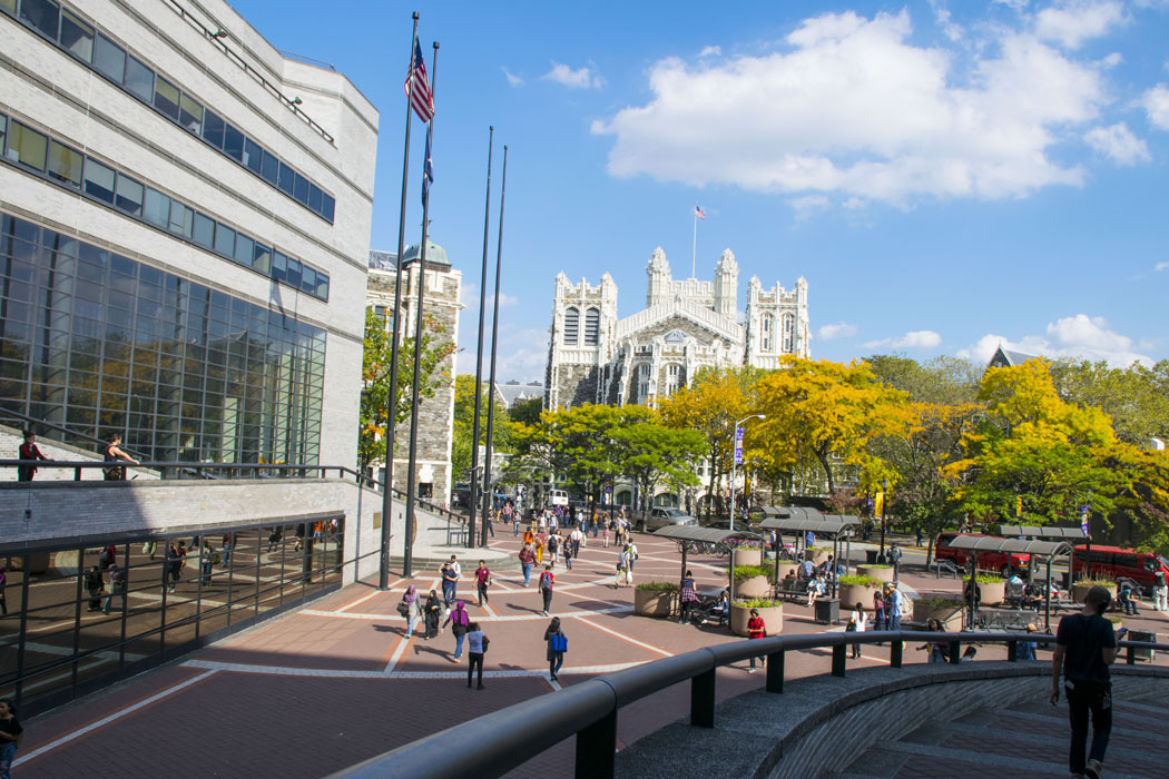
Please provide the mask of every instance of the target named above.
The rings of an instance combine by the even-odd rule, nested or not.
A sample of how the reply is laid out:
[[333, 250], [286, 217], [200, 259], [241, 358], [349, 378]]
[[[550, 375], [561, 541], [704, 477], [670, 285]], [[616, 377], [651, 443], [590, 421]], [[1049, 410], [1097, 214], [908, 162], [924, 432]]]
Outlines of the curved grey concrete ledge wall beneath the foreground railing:
[[[878, 737], [894, 740], [929, 721], [982, 707], [1045, 701], [1051, 665], [913, 665], [850, 672], [845, 679], [825, 673], [786, 683], [782, 695], [767, 693], [762, 681], [760, 689], [720, 703], [712, 729], [693, 728], [685, 717], [636, 742], [617, 754], [616, 774], [807, 779], [843, 771]], [[1163, 700], [1169, 668], [1115, 666], [1113, 688], [1119, 701]]]

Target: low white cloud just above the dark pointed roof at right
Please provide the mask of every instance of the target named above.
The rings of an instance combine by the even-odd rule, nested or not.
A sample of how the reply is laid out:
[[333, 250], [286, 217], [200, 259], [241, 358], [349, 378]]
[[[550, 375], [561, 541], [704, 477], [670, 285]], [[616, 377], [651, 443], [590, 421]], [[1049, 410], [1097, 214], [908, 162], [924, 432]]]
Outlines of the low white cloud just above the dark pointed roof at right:
[[1153, 360], [1134, 349], [1133, 339], [1108, 328], [1102, 317], [1075, 314], [1050, 322], [1043, 335], [1024, 335], [1010, 340], [1002, 335], [988, 334], [969, 348], [960, 349], [957, 356], [985, 363], [995, 349], [1003, 348], [1045, 357], [1080, 357], [1092, 361], [1106, 360], [1111, 366], [1125, 368], [1134, 362], [1151, 366]]

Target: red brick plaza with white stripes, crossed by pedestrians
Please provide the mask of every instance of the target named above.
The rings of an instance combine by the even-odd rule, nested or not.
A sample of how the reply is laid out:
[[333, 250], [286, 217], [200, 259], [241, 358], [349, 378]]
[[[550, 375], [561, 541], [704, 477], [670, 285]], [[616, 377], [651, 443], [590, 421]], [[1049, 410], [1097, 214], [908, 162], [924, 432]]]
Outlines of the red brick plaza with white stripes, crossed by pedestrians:
[[[635, 582], [677, 580], [672, 543], [637, 536]], [[493, 548], [514, 551], [517, 540], [499, 531]], [[856, 550], [855, 550], [856, 554]], [[475, 568], [459, 555], [464, 580]], [[574, 569], [558, 565], [552, 613], [569, 639], [561, 684], [671, 656], [700, 646], [739, 640], [725, 628], [692, 627], [635, 617], [632, 589], [611, 587], [617, 552], [589, 540]], [[725, 585], [724, 559], [691, 557], [703, 590]], [[918, 590], [956, 589], [953, 580], [913, 577]], [[413, 579], [420, 591], [438, 589], [437, 571]], [[291, 614], [230, 637], [184, 661], [26, 723], [18, 753], [19, 779], [58, 777], [168, 779], [282, 777], [312, 779], [409, 743], [452, 724], [558, 689], [548, 679], [540, 593], [524, 587], [518, 572], [496, 577], [480, 608], [462, 586], [472, 620], [491, 638], [484, 690], [465, 686], [465, 660], [454, 661], [448, 631], [434, 640], [407, 640], [396, 605], [409, 584], [393, 578], [389, 592], [357, 584]], [[1155, 618], [1164, 631], [1163, 618]], [[825, 630], [810, 610], [786, 607], [784, 633]], [[836, 628], [841, 630], [841, 628]], [[997, 649], [987, 648], [985, 653]], [[829, 652], [793, 653], [791, 677], [826, 673]], [[997, 656], [997, 654], [996, 654]], [[907, 662], [924, 653], [906, 652]], [[866, 648], [851, 663], [887, 662], [887, 649]], [[746, 663], [719, 672], [727, 697], [763, 683]], [[622, 709], [618, 745], [685, 715], [689, 687], [677, 686]], [[451, 744], [450, 749], [461, 745]], [[513, 772], [516, 777], [572, 774], [569, 739]]]

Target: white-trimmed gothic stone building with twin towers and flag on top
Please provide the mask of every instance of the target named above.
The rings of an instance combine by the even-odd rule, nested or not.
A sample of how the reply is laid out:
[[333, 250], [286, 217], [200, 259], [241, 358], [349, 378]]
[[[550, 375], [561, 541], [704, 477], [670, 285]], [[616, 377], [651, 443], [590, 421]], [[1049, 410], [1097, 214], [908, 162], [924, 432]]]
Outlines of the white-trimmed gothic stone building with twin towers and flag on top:
[[617, 318], [617, 285], [573, 284], [556, 276], [545, 382], [545, 408], [581, 403], [652, 405], [689, 385], [700, 368], [775, 368], [780, 357], [809, 356], [808, 281], [795, 290], [747, 283], [739, 320], [739, 265], [729, 249], [713, 281], [675, 280], [660, 248], [646, 267], [645, 308]]

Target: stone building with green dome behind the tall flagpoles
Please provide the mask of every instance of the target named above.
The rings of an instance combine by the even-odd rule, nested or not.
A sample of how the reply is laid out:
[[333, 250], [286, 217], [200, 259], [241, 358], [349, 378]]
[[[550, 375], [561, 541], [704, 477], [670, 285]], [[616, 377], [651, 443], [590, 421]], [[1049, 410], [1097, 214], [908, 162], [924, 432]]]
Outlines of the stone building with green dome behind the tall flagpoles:
[[[385, 317], [386, 328], [394, 327], [394, 287], [397, 283], [397, 256], [388, 251], [369, 252], [369, 279], [366, 306]], [[401, 338], [414, 338], [417, 322], [419, 300], [419, 246], [406, 250], [403, 271], [407, 286], [402, 287]], [[458, 313], [463, 305], [458, 301], [463, 284], [462, 271], [450, 266], [447, 250], [434, 242], [427, 242], [426, 279], [423, 281], [423, 311], [428, 320], [442, 326], [447, 338], [455, 340], [458, 333]], [[450, 448], [455, 419], [455, 354], [438, 367], [448, 382], [435, 396], [419, 406], [419, 465], [417, 489], [422, 496], [442, 503], [450, 502], [451, 481], [461, 474], [451, 473]], [[406, 491], [407, 466], [409, 465], [410, 420], [397, 424], [394, 454], [394, 487]], [[378, 462], [378, 478], [385, 477], [385, 464]]]

